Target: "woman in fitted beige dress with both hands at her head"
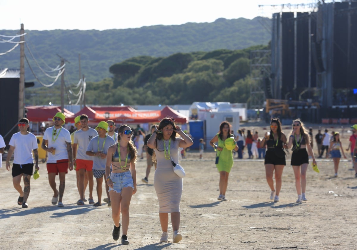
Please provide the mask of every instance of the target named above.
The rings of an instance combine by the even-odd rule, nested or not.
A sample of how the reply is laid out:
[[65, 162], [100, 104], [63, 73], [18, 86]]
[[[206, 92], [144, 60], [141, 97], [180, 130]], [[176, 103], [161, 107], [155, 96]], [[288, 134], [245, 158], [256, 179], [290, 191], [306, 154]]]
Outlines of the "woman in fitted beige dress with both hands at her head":
[[[180, 227], [180, 200], [182, 195], [182, 178], [174, 172], [171, 161], [178, 164], [180, 147], [189, 147], [193, 144], [179, 126], [175, 125], [172, 118], [164, 118], [159, 127], [147, 141], [147, 146], [154, 149], [153, 159], [157, 162], [154, 176], [154, 187], [159, 200], [159, 217], [162, 229], [160, 242], [167, 242], [167, 225], [169, 213], [171, 214], [172, 242], [177, 243], [182, 239], [178, 232]], [[180, 137], [176, 137], [178, 134]]]

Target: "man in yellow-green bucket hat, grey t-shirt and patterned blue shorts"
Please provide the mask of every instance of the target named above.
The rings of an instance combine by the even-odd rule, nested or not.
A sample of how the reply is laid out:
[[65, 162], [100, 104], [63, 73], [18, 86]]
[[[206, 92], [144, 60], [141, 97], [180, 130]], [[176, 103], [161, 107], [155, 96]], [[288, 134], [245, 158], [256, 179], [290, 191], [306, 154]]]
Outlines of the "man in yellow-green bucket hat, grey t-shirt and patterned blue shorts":
[[[90, 140], [89, 145], [87, 147], [86, 154], [93, 156], [93, 175], [97, 181], [97, 196], [98, 202], [94, 203], [94, 206], [101, 206], [102, 202], [100, 201], [102, 198], [102, 184], [103, 184], [103, 176], [105, 176], [105, 164], [107, 161], [107, 152], [111, 145], [115, 144], [114, 140], [106, 135], [108, 132], [108, 123], [105, 121], [99, 122], [98, 126], [95, 128], [98, 132], [98, 135]], [[107, 187], [107, 180], [104, 177], [105, 186]], [[105, 189], [107, 193], [108, 205], [110, 202], [109, 197], [109, 189]]]

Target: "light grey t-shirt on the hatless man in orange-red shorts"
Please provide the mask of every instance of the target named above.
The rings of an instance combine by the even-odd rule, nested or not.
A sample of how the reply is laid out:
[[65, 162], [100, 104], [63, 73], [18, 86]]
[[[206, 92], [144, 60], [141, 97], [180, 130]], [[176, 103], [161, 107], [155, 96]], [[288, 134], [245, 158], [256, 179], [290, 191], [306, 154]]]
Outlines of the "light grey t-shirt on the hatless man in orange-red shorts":
[[74, 143], [77, 145], [77, 155], [76, 159], [92, 161], [93, 156], [86, 155], [87, 147], [90, 140], [97, 136], [97, 130], [92, 129], [91, 127], [84, 131], [83, 129], [78, 130], [74, 134]]

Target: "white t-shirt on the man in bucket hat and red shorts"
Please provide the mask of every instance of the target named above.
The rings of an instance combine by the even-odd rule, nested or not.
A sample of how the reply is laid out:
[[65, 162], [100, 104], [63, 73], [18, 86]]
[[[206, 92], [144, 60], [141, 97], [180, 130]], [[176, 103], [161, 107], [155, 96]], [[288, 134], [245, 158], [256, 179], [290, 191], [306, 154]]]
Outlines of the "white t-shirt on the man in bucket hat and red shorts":
[[47, 163], [56, 163], [58, 160], [68, 159], [67, 144], [71, 143], [71, 134], [64, 127], [55, 129], [54, 126], [45, 130], [44, 140], [48, 141], [47, 147], [54, 147], [55, 154], [48, 152]]

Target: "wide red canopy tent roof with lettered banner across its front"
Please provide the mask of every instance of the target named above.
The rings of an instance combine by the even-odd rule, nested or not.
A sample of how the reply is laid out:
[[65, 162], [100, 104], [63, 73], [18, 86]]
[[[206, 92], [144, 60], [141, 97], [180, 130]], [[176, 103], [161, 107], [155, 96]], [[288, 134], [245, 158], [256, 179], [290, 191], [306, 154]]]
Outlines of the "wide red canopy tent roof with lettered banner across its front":
[[100, 122], [106, 120], [114, 120], [115, 122], [127, 124], [140, 124], [140, 123], [157, 123], [162, 118], [170, 116], [175, 119], [176, 123], [186, 123], [188, 118], [179, 112], [171, 109], [169, 106], [164, 107], [162, 110], [154, 111], [137, 111], [132, 107], [118, 106], [118, 107], [85, 107], [78, 111], [75, 115], [68, 119], [73, 121], [74, 117], [86, 114], [90, 122]]

